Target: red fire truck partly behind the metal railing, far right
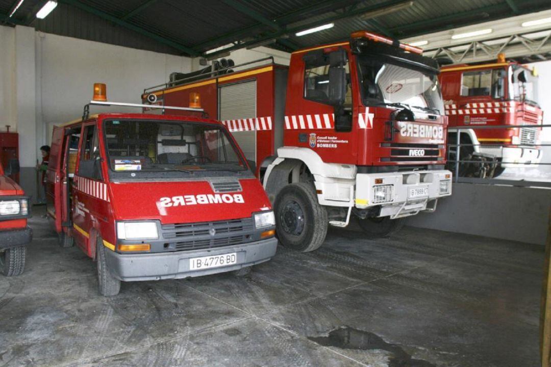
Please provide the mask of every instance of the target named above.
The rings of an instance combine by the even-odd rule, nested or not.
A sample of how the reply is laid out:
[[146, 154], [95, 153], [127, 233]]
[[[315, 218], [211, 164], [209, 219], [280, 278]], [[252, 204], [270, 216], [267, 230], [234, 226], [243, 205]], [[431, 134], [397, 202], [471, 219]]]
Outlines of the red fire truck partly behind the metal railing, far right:
[[[538, 163], [539, 130], [543, 111], [538, 105], [535, 70], [507, 62], [449, 65], [440, 74], [450, 129], [448, 140], [457, 144], [453, 127], [511, 125], [516, 129], [461, 129], [460, 176], [497, 177], [507, 167]], [[528, 126], [529, 125], [529, 126]], [[456, 148], [450, 149], [448, 167], [455, 168]]]

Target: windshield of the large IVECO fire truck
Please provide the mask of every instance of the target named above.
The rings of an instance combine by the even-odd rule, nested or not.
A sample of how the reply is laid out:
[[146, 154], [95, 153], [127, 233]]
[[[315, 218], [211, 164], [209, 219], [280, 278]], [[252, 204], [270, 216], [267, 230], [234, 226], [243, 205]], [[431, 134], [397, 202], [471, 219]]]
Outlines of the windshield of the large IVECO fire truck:
[[369, 54], [358, 56], [364, 104], [395, 105], [443, 114], [444, 102], [435, 73], [381, 61]]

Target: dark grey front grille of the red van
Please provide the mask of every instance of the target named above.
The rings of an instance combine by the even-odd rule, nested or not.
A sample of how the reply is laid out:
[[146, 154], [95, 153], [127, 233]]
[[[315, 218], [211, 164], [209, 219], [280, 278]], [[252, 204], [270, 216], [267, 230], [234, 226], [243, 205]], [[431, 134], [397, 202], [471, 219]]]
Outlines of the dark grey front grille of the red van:
[[175, 245], [175, 249], [180, 251], [210, 249], [251, 242], [253, 229], [251, 218], [161, 225], [165, 247]]

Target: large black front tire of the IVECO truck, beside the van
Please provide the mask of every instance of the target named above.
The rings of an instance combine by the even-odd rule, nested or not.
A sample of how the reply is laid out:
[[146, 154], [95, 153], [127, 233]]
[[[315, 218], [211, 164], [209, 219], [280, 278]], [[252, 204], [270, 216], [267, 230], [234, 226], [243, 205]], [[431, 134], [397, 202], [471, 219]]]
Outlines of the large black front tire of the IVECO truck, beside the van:
[[327, 235], [327, 211], [306, 183], [285, 186], [274, 203], [276, 234], [285, 247], [306, 253], [319, 248]]

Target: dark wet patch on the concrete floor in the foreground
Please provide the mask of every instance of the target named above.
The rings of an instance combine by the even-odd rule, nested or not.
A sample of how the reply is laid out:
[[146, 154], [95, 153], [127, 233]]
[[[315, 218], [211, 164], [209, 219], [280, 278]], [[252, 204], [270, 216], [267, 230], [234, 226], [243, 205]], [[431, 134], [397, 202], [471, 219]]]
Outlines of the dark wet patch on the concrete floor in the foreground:
[[324, 347], [341, 349], [386, 350], [391, 354], [388, 367], [436, 367], [422, 359], [413, 359], [402, 347], [385, 342], [380, 336], [363, 330], [343, 326], [329, 332], [328, 336], [308, 337]]

